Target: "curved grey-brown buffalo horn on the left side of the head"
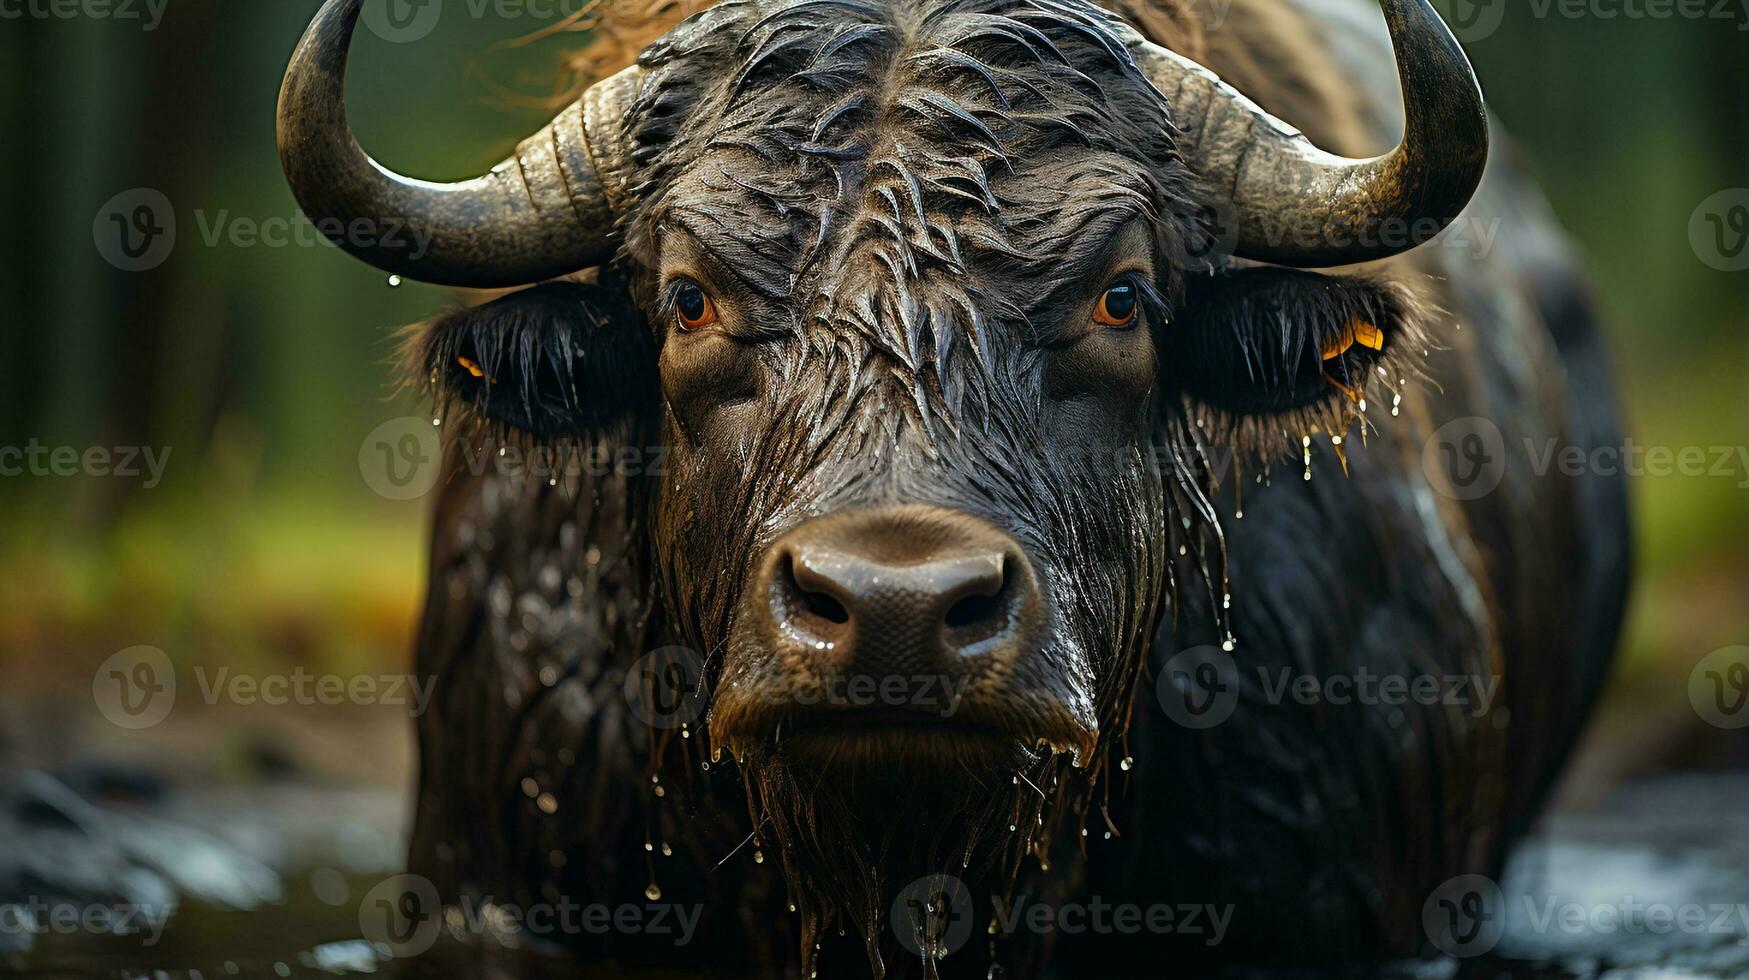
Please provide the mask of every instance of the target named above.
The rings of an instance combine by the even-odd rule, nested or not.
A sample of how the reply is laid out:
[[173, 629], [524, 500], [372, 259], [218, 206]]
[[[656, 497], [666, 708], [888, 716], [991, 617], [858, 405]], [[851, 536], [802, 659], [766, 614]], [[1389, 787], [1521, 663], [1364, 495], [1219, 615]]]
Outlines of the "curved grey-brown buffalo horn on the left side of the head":
[[346, 124], [360, 4], [324, 4], [280, 89], [280, 163], [317, 228], [380, 270], [439, 285], [525, 285], [612, 256], [628, 173], [616, 135], [638, 70], [593, 86], [484, 177], [413, 180], [371, 159]]

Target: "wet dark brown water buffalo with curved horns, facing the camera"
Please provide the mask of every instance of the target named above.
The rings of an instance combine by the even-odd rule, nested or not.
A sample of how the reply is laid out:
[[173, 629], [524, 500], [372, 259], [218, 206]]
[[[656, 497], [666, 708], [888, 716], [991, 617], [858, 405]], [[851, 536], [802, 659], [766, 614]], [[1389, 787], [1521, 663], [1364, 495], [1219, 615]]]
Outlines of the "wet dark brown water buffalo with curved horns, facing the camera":
[[518, 940], [637, 968], [1445, 948], [1593, 700], [1627, 516], [1530, 466], [1614, 439], [1595, 317], [1438, 14], [1380, 5], [609, 5], [635, 63], [432, 184], [353, 138], [329, 0], [304, 210], [528, 287], [408, 345], [451, 471], [413, 872], [698, 910]]

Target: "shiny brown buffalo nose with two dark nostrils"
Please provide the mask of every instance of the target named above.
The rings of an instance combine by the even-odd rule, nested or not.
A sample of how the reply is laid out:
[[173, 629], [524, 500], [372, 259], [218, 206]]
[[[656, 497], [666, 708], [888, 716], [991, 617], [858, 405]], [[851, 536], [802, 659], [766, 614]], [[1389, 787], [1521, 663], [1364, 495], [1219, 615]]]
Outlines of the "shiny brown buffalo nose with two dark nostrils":
[[1028, 646], [1037, 579], [997, 527], [941, 508], [813, 518], [773, 546], [771, 637], [855, 674], [962, 674]]

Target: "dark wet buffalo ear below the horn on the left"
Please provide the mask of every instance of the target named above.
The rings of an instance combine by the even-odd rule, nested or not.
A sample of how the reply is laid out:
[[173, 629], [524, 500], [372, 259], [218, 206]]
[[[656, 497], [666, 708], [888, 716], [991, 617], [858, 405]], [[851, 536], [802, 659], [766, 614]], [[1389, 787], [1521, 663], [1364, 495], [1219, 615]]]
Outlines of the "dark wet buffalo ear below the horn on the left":
[[406, 360], [444, 415], [542, 443], [616, 432], [658, 406], [654, 338], [607, 273], [448, 313], [409, 338]]

